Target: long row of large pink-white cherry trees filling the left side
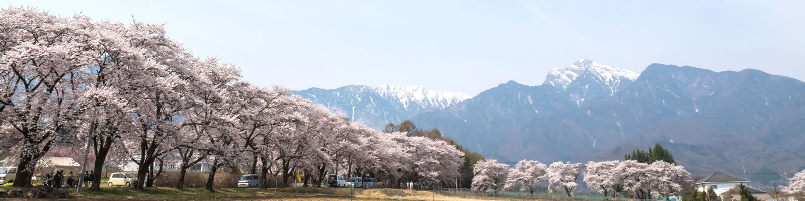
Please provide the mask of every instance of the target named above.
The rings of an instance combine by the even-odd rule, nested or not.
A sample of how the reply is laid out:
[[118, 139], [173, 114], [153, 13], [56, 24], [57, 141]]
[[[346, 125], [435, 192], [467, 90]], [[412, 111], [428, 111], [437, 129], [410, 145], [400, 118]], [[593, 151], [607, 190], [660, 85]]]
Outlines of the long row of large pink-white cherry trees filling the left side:
[[31, 184], [54, 147], [84, 142], [96, 173], [138, 165], [139, 181], [148, 181], [138, 190], [153, 185], [166, 157], [180, 161], [179, 188], [188, 168], [212, 163], [209, 191], [218, 170], [236, 165], [281, 175], [280, 183], [300, 171], [315, 185], [341, 173], [450, 186], [464, 162], [446, 142], [380, 133], [287, 88], [250, 84], [233, 65], [193, 56], [162, 25], [33, 8], [0, 11], [0, 126], [4, 141], [18, 142], [5, 156], [19, 164], [15, 187]]

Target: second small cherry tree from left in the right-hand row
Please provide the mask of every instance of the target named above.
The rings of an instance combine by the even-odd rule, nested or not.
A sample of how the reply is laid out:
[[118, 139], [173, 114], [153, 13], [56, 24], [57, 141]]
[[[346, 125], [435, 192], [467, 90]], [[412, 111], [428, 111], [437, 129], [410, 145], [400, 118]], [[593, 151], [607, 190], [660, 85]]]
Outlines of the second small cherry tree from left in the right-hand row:
[[534, 186], [545, 178], [545, 174], [547, 166], [542, 162], [522, 160], [509, 171], [506, 188], [512, 189], [516, 183], [522, 183], [520, 191], [530, 191], [533, 195]]

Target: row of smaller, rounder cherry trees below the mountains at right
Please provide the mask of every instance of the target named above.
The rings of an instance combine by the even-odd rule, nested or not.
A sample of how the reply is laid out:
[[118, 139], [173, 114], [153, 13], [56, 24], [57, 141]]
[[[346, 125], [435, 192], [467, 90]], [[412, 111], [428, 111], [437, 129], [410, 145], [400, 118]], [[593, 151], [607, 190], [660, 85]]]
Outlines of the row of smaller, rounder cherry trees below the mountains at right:
[[[683, 166], [667, 162], [653, 162], [650, 165], [633, 160], [588, 162], [584, 165], [584, 183], [589, 189], [613, 196], [615, 187], [622, 187], [636, 199], [663, 199], [672, 193], [691, 185], [691, 174]], [[568, 196], [578, 187], [577, 178], [581, 173], [581, 163], [554, 162], [551, 166], [535, 161], [522, 160], [509, 169], [509, 165], [495, 160], [478, 162], [475, 166], [473, 189], [480, 191], [512, 191], [522, 184], [521, 191], [534, 193], [535, 185], [542, 181], [549, 183], [548, 191]]]

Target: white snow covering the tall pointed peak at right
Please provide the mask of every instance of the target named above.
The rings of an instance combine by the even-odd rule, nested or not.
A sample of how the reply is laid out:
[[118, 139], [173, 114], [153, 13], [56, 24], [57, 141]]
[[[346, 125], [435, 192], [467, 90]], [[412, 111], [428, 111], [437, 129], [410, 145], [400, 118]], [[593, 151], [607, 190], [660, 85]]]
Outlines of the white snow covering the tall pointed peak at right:
[[591, 72], [610, 86], [621, 79], [634, 81], [638, 80], [638, 76], [640, 76], [640, 74], [629, 70], [598, 64], [588, 59], [579, 59], [568, 68], [554, 68], [551, 72], [548, 72], [543, 84], [551, 84], [556, 88], [561, 87], [561, 89], [564, 89], [584, 72]]

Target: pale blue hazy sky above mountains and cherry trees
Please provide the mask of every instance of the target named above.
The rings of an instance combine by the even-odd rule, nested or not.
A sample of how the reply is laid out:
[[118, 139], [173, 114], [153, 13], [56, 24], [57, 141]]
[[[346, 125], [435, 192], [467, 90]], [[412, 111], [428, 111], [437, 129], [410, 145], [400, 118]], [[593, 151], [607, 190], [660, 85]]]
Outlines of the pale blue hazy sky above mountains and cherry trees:
[[592, 59], [805, 80], [805, 1], [4, 1], [166, 23], [198, 56], [294, 90], [419, 84], [470, 96]]

